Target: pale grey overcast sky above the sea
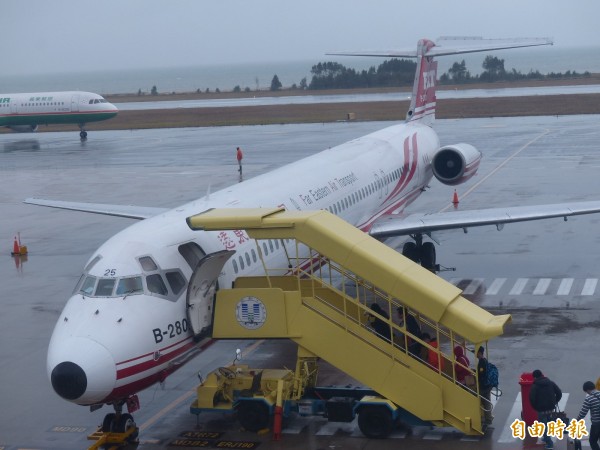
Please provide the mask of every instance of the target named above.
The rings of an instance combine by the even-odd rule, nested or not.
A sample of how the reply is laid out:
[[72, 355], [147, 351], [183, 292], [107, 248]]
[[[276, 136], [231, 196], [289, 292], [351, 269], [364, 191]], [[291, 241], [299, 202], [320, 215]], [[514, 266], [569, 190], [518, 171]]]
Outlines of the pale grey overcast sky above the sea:
[[321, 61], [461, 35], [600, 46], [600, 0], [0, 0], [4, 74]]

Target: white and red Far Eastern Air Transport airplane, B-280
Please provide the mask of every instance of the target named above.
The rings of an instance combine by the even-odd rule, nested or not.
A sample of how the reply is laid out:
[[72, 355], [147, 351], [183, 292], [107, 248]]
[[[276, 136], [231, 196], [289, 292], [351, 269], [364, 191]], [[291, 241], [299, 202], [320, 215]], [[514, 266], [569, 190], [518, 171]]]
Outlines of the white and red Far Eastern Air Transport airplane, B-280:
[[[448, 185], [463, 183], [481, 160], [469, 144], [441, 146], [430, 126], [436, 108], [434, 56], [546, 44], [551, 41], [445, 38], [420, 40], [416, 51], [379, 53], [417, 58], [404, 123], [174, 209], [27, 199], [139, 219], [91, 256], [60, 315], [47, 357], [56, 393], [94, 409], [112, 404], [116, 414], [106, 416], [105, 430], [131, 426], [133, 419], [121, 413], [122, 406], [134, 405], [137, 392], [165, 380], [198, 351], [199, 338], [210, 330], [215, 280], [230, 286], [238, 276], [264, 274], [255, 243], [243, 231], [190, 229], [186, 218], [210, 208], [327, 209], [376, 237], [412, 237], [404, 253], [429, 269], [436, 266], [435, 248], [423, 236], [432, 231], [600, 212], [600, 202], [585, 202], [400, 215], [433, 177]], [[287, 266], [284, 244], [260, 243], [270, 267]], [[199, 281], [207, 273], [212, 273], [212, 289], [201, 290]]]

